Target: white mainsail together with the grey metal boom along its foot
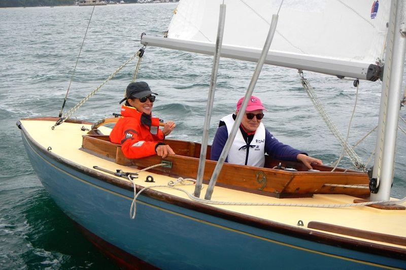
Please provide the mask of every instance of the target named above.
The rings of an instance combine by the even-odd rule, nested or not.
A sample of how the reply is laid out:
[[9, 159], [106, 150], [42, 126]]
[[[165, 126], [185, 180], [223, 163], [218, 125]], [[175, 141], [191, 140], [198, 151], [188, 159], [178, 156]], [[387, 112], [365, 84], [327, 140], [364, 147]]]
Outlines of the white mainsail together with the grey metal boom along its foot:
[[[257, 61], [272, 14], [282, 0], [224, 0], [223, 57]], [[181, 0], [167, 37], [142, 43], [213, 54], [223, 0]], [[376, 80], [383, 57], [390, 1], [284, 0], [265, 63]], [[374, 77], [374, 78], [371, 78]]]

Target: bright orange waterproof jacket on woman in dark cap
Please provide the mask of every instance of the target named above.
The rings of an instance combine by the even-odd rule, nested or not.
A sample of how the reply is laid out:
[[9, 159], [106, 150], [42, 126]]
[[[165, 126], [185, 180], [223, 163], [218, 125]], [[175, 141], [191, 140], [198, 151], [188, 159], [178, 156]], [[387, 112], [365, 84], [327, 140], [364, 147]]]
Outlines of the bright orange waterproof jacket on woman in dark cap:
[[124, 156], [129, 159], [155, 155], [156, 146], [164, 144], [159, 119], [126, 105], [121, 107], [121, 115], [110, 133], [110, 141], [121, 144]]

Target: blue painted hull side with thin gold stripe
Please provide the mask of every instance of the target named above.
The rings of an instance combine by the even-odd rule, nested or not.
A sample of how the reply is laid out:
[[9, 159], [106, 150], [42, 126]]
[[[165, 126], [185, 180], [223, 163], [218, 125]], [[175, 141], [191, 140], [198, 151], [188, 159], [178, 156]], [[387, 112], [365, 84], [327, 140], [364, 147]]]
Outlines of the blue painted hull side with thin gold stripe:
[[406, 268], [402, 258], [323, 244], [309, 240], [311, 234], [307, 239], [237, 222], [179, 202], [168, 203], [164, 195], [160, 199], [148, 192], [139, 197], [137, 217], [132, 220], [130, 188], [73, 168], [33, 142], [24, 130], [22, 139], [32, 167], [67, 216], [108, 243], [100, 248], [112, 245], [149, 265], [166, 269]]

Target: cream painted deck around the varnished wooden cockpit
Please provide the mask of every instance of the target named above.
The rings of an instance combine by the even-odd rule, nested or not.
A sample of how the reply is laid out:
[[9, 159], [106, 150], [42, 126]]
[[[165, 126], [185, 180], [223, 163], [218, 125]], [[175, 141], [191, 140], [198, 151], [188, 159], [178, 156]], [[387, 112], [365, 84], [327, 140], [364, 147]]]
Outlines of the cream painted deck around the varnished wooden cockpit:
[[[136, 171], [134, 168], [117, 165], [105, 159], [90, 155], [79, 148], [82, 145], [82, 135], [87, 131], [81, 131], [82, 124], [63, 123], [51, 130], [54, 122], [49, 121], [21, 121], [22, 126], [28, 134], [45, 149], [52, 147], [52, 152], [56, 155], [71, 160], [79, 165], [90, 168], [99, 166], [111, 171], [122, 169], [123, 171]], [[89, 125], [84, 125], [90, 128]], [[109, 134], [110, 129], [106, 127], [99, 128], [104, 134]], [[151, 164], [153, 165], [153, 164]], [[95, 170], [97, 171], [97, 170]], [[98, 171], [100, 172], [100, 171]], [[103, 173], [103, 172], [100, 172]], [[107, 174], [110, 175], [110, 174]], [[136, 183], [141, 186], [148, 186], [145, 182], [147, 175], [153, 175], [154, 185], [163, 185], [176, 178], [162, 176], [153, 173], [140, 173]], [[112, 176], [112, 175], [110, 175]], [[115, 177], [115, 176], [113, 176]], [[117, 177], [122, 181], [124, 178]], [[128, 181], [128, 180], [127, 180]], [[178, 186], [193, 193], [194, 186]], [[207, 186], [204, 185], [201, 197], [204, 197]], [[180, 198], [190, 200], [186, 194], [181, 191], [169, 188], [154, 188], [166, 194], [171, 194]], [[222, 187], [215, 187], [212, 200], [231, 201], [231, 202], [256, 202], [256, 203], [302, 203], [302, 204], [347, 204], [353, 202], [353, 197], [346, 195], [315, 195], [314, 198], [299, 199], [277, 199], [266, 197], [248, 192], [232, 190]], [[406, 203], [403, 204], [406, 206]], [[347, 208], [308, 208], [308, 207], [282, 207], [282, 206], [227, 206], [211, 205], [217, 208], [226, 209], [262, 219], [272, 220], [291, 226], [297, 226], [297, 221], [302, 220], [306, 227], [310, 221], [325, 222], [334, 225], [352, 227], [356, 229], [367, 230], [395, 236], [406, 237], [406, 210], [379, 210], [370, 207], [347, 207]], [[130, 202], [128, 203], [128, 211]], [[331, 234], [331, 233], [330, 233]], [[346, 236], [347, 237], [347, 236]], [[348, 237], [353, 238], [353, 237]], [[357, 238], [353, 238], [357, 239]], [[360, 239], [362, 241], [381, 243]], [[395, 246], [406, 249], [404, 246], [381, 243], [388, 246]]]

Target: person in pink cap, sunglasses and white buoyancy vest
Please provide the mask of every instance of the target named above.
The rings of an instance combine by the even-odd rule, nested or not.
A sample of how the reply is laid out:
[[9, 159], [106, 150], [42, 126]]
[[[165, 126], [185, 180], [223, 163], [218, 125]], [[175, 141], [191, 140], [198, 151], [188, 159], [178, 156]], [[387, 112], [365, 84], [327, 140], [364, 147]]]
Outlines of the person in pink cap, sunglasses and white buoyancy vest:
[[[239, 113], [244, 98], [237, 103], [235, 114], [229, 114], [220, 120], [219, 127], [214, 137], [211, 160], [217, 161], [224, 148], [228, 135], [231, 132], [236, 114]], [[226, 162], [240, 165], [263, 167], [265, 165], [265, 153], [269, 156], [285, 161], [300, 161], [307, 168], [312, 169], [311, 164], [322, 164], [321, 160], [309, 157], [307, 153], [297, 150], [289, 145], [279, 142], [265, 129], [261, 123], [266, 110], [259, 98], [251, 96], [240, 129], [235, 135], [231, 149], [228, 152]]]

